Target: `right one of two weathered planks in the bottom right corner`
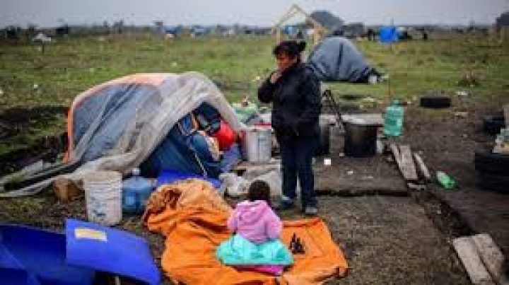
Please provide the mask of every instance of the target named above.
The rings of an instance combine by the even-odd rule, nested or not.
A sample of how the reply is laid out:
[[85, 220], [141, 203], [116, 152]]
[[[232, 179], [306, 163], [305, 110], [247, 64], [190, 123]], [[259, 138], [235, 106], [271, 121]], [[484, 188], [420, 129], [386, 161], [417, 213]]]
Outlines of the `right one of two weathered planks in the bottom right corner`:
[[508, 285], [509, 279], [503, 272], [504, 256], [493, 239], [487, 233], [472, 236], [472, 241], [477, 248], [484, 267], [488, 269], [491, 278], [498, 285]]

